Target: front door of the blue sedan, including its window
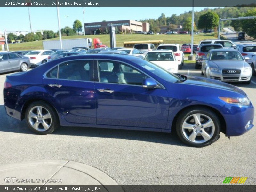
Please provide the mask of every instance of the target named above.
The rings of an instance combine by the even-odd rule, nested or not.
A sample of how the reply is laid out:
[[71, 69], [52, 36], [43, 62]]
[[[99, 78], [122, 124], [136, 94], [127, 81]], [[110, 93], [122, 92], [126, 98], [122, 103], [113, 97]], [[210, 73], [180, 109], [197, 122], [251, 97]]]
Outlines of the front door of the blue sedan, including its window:
[[125, 63], [98, 60], [97, 67], [97, 124], [166, 128], [169, 99], [165, 89], [143, 88], [148, 76]]

